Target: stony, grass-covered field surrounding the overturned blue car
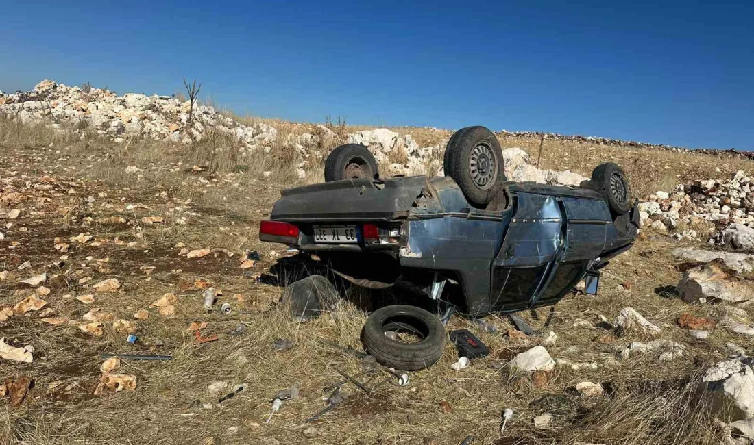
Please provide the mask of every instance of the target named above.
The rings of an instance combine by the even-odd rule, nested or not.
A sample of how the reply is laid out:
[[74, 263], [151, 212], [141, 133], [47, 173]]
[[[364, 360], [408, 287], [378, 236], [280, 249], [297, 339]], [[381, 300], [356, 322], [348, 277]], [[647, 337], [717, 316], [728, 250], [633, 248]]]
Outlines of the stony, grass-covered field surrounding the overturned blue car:
[[[204, 117], [181, 127], [178, 99], [142, 108], [88, 93], [71, 119], [100, 119], [99, 102], [117, 117], [54, 122], [54, 110], [71, 108], [59, 102], [0, 120], [0, 442], [750, 443], [751, 161], [589, 141], [543, 149], [501, 134], [516, 179], [578, 184], [600, 162], [621, 163], [645, 199], [645, 226], [604, 270], [599, 295], [575, 291], [549, 324], [547, 308], [521, 313], [532, 335], [497, 316], [454, 316], [449, 327], [474, 331], [492, 354], [454, 370], [449, 347], [400, 386], [320, 343], [363, 349], [359, 301], [290, 319], [277, 300], [293, 254], [256, 231], [282, 188], [320, 180], [335, 145], [369, 145], [384, 172], [435, 174], [449, 132], [226, 121], [205, 110], [228, 130], [208, 125], [200, 138], [192, 130]], [[47, 100], [2, 97], [11, 96], [5, 106], [23, 110]], [[122, 129], [109, 130], [115, 119]], [[126, 130], [162, 119], [166, 131]], [[242, 126], [276, 136], [247, 140]], [[368, 391], [346, 385], [336, 407], [305, 422], [327, 406], [323, 389], [339, 371]]]

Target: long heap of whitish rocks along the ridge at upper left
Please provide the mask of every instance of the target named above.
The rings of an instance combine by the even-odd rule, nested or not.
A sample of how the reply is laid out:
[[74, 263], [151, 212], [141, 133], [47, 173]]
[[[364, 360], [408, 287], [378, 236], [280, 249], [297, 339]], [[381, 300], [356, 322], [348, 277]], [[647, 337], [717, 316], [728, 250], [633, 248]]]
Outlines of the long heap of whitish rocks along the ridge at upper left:
[[207, 130], [238, 136], [246, 148], [264, 148], [277, 139], [277, 130], [266, 123], [246, 126], [207, 105], [192, 104], [171, 96], [145, 96], [90, 87], [67, 87], [41, 81], [29, 92], [0, 92], [0, 118], [23, 123], [73, 123], [75, 132], [96, 132], [115, 142], [130, 137], [191, 143]]

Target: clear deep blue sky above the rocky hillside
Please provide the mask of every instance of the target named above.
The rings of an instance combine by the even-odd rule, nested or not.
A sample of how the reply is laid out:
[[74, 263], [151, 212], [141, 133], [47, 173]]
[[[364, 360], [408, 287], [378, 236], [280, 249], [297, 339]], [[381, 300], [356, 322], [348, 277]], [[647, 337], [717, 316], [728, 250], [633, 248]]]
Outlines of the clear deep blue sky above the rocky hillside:
[[754, 2], [0, 0], [0, 17], [6, 92], [186, 76], [241, 114], [754, 149]]

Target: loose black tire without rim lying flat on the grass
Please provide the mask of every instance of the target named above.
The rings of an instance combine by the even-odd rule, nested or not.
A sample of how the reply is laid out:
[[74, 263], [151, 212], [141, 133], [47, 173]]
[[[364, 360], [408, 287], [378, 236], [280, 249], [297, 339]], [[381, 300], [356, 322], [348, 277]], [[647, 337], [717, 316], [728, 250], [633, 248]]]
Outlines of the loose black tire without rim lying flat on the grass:
[[[410, 331], [421, 340], [401, 343], [385, 335], [386, 330]], [[437, 363], [446, 342], [445, 327], [436, 315], [405, 304], [385, 306], [372, 312], [364, 324], [362, 338], [370, 355], [379, 363], [398, 370], [420, 370]]]

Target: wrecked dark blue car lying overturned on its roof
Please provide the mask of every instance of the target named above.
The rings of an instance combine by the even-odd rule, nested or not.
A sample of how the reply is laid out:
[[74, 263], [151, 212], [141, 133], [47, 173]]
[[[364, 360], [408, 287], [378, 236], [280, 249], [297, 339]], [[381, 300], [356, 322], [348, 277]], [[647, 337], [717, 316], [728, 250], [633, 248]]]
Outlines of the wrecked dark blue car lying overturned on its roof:
[[[326, 160], [324, 183], [282, 192], [259, 239], [316, 254], [354, 285], [423, 294], [439, 313], [551, 305], [585, 277], [596, 292], [599, 270], [630, 248], [639, 227], [624, 172], [603, 163], [573, 187], [510, 182], [503, 165], [498, 140], [482, 126], [453, 134], [444, 177], [382, 178], [363, 145], [342, 145]], [[303, 304], [323, 309], [322, 279], [309, 279], [319, 280], [308, 292], [318, 296]], [[418, 317], [410, 306], [400, 311], [410, 313], [396, 315], [400, 322], [387, 317], [375, 331]], [[431, 337], [428, 323], [408, 330]]]

